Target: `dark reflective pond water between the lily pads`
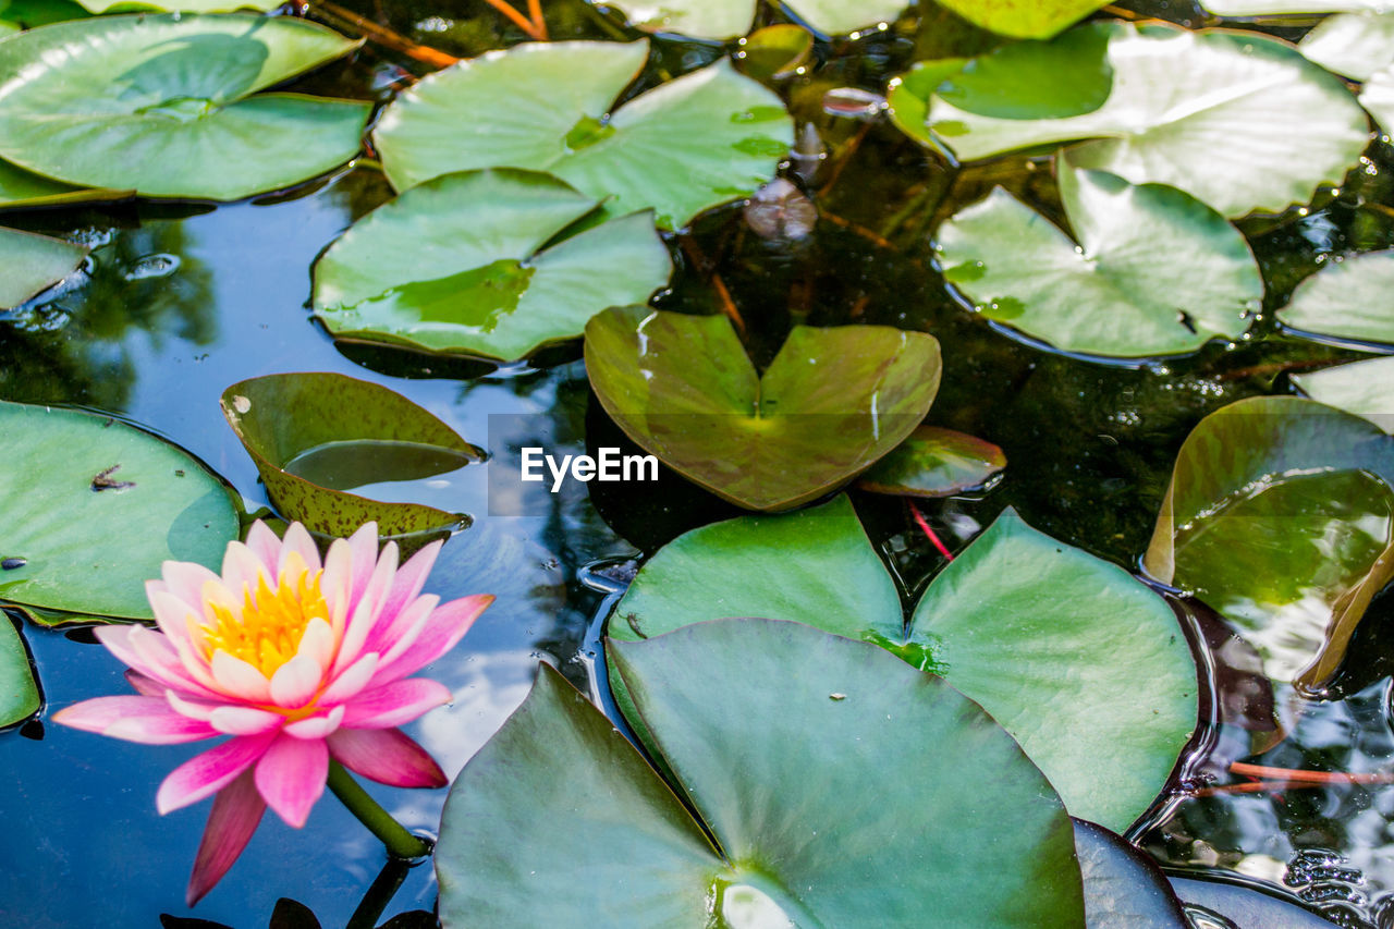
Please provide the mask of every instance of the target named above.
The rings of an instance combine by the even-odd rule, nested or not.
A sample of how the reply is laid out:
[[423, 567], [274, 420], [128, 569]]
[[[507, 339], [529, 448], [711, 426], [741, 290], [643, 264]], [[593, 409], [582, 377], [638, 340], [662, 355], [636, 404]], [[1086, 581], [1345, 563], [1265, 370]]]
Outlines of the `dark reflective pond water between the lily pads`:
[[[1185, 4], [1125, 6], [1199, 21]], [[473, 4], [468, 18], [425, 4], [361, 7], [452, 54], [520, 38], [500, 32], [482, 4]], [[548, 10], [553, 38], [616, 38], [611, 21], [576, 0]], [[704, 215], [675, 250], [680, 264], [659, 304], [711, 311], [718, 307], [712, 273], [719, 275], [751, 328], [760, 364], [768, 363], [792, 322], [860, 319], [933, 332], [944, 346], [945, 370], [928, 421], [995, 442], [1009, 460], [991, 491], [921, 506], [951, 547], [1012, 505], [1037, 529], [1135, 571], [1177, 449], [1206, 413], [1243, 396], [1288, 392], [1288, 372], [1358, 357], [1289, 339], [1264, 322], [1255, 338], [1211, 345], [1189, 358], [1104, 365], [1026, 345], [969, 315], [928, 261], [928, 230], [951, 204], [972, 202], [993, 184], [1054, 209], [1048, 172], [1029, 159], [1005, 158], [951, 176], [884, 120], [824, 112], [824, 93], [832, 88], [884, 86], [917, 57], [913, 36], [877, 33], [836, 42], [825, 53], [817, 77], [789, 86], [800, 123], [814, 124], [835, 155], [852, 152], [845, 165], [825, 162], [820, 169], [822, 222], [806, 239], [765, 239], [744, 222], [740, 206]], [[712, 46], [661, 40], [650, 74], [657, 80], [691, 70], [717, 54]], [[368, 45], [351, 63], [298, 86], [382, 99], [408, 66]], [[1391, 177], [1394, 152], [1376, 144], [1335, 199], [1245, 227], [1269, 285], [1267, 310], [1331, 257], [1394, 246]], [[219, 411], [223, 389], [244, 378], [336, 371], [369, 379], [488, 448], [495, 463], [463, 467], [392, 449], [404, 452], [407, 467], [421, 474], [400, 484], [396, 466], [346, 473], [336, 463], [342, 449], [316, 449], [296, 463], [307, 476], [329, 480], [332, 473], [344, 488], [369, 485], [386, 494], [388, 481], [400, 491], [395, 499], [473, 516], [473, 526], [445, 547], [427, 590], [443, 598], [487, 591], [498, 603], [432, 668], [454, 692], [454, 703], [406, 727], [453, 776], [527, 693], [539, 660], [597, 692], [599, 624], [631, 568], [629, 559], [737, 511], [665, 470], [657, 484], [625, 495], [604, 484], [570, 483], [556, 495], [537, 485], [530, 515], [500, 515], [507, 508], [491, 501], [488, 469], [507, 466], [503, 445], [539, 445], [558, 455], [602, 445], [637, 449], [591, 396], [579, 346], [551, 352], [538, 368], [495, 371], [336, 345], [312, 321], [305, 308], [311, 264], [389, 195], [369, 163], [287, 195], [216, 209], [139, 204], [7, 215], [8, 225], [77, 236], [95, 248], [81, 280], [0, 315], [0, 399], [128, 417], [206, 462], [247, 498], [248, 509], [268, 504], [265, 491]], [[491, 417], [503, 418], [491, 424]], [[381, 451], [372, 460], [383, 460]], [[899, 501], [855, 495], [855, 502], [913, 603], [942, 557]], [[1204, 738], [1214, 753], [1192, 766], [1197, 778], [1190, 785], [1202, 785], [1200, 773], [1223, 773], [1239, 757], [1333, 771], [1388, 764], [1394, 658], [1376, 644], [1387, 640], [1391, 624], [1394, 598], [1377, 600], [1334, 699], [1276, 696], [1294, 730], [1269, 753], [1250, 757], [1252, 734], [1238, 717], [1217, 724]], [[24, 625], [24, 636], [40, 672], [46, 713], [123, 690], [121, 665], [91, 632]], [[1238, 677], [1220, 675], [1221, 686]], [[184, 884], [206, 805], [159, 817], [153, 794], [164, 773], [197, 750], [99, 739], [42, 718], [0, 734], [0, 822], [7, 831], [0, 922], [148, 929], [160, 919], [192, 928], [198, 923], [180, 919], [197, 916], [261, 926], [277, 898], [293, 897], [325, 926], [372, 926], [393, 914], [432, 908], [429, 868], [378, 880], [386, 863], [382, 847], [328, 801], [302, 833], [268, 816], [217, 890], [188, 911]], [[372, 792], [421, 831], [435, 827], [445, 798], [445, 791]], [[1391, 817], [1394, 785], [1330, 784], [1178, 799], [1135, 837], [1177, 868], [1239, 872], [1301, 894], [1341, 925], [1388, 928]], [[369, 900], [354, 915], [369, 889], [385, 896], [383, 886], [397, 877], [403, 883], [385, 908], [374, 912], [378, 904]]]

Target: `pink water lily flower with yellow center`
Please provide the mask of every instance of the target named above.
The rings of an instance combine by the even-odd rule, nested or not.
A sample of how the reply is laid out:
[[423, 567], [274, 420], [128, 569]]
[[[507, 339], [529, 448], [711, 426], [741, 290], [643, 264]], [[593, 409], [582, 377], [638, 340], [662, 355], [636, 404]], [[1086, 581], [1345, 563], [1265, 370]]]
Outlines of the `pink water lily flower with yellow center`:
[[233, 865], [268, 806], [304, 826], [332, 760], [395, 787], [445, 785], [397, 727], [449, 703], [450, 690], [410, 675], [454, 647], [493, 597], [441, 604], [421, 594], [439, 548], [399, 566], [396, 544], [379, 557], [368, 523], [321, 562], [300, 523], [280, 540], [256, 522], [245, 544], [227, 545], [222, 576], [164, 562], [163, 580], [145, 586], [159, 630], [96, 630], [138, 696], [85, 700], [56, 723], [151, 745], [231, 737], [176, 767], [156, 795], [160, 813], [217, 795], [190, 905]]

